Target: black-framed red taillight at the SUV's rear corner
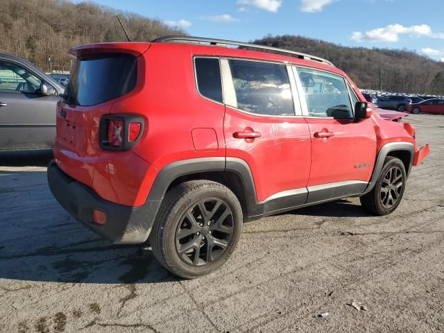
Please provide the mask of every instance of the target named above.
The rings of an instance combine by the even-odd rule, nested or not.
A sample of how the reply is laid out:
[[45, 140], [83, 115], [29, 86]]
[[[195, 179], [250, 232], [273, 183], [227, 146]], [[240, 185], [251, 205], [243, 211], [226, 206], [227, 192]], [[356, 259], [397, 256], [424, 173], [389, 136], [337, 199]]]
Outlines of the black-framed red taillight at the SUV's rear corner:
[[108, 114], [100, 119], [99, 144], [110, 151], [128, 151], [142, 136], [144, 119], [132, 114]]

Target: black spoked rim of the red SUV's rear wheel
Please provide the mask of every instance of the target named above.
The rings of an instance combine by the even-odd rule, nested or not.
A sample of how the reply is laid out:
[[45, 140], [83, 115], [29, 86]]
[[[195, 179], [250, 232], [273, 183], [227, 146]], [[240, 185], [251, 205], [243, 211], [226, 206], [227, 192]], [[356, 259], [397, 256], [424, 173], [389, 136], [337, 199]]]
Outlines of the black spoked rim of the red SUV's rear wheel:
[[177, 253], [191, 266], [210, 264], [225, 253], [233, 230], [233, 214], [223, 200], [200, 200], [180, 219], [176, 230]]

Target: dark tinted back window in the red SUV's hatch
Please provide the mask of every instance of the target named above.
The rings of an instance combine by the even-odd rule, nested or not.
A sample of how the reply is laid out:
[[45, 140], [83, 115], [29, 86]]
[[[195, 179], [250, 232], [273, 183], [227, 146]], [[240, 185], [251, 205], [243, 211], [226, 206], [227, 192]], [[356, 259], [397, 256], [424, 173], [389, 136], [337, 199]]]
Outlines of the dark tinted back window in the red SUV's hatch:
[[67, 103], [96, 105], [127, 94], [136, 85], [137, 60], [130, 54], [113, 53], [78, 58], [65, 94]]

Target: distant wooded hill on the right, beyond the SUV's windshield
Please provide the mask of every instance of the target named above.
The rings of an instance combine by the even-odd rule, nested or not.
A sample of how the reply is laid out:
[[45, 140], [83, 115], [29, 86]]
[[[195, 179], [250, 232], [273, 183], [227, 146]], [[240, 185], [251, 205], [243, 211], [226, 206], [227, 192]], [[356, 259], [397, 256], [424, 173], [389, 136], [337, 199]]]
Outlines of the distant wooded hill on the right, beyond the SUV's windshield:
[[361, 89], [444, 94], [444, 63], [412, 51], [344, 47], [293, 35], [266, 36], [254, 42], [328, 59]]

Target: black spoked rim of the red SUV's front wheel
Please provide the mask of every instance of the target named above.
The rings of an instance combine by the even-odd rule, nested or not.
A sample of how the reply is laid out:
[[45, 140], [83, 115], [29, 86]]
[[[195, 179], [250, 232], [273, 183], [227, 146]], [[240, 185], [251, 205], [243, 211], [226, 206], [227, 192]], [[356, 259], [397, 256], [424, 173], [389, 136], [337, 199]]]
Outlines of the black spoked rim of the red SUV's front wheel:
[[382, 179], [381, 190], [379, 191], [382, 206], [390, 209], [398, 203], [404, 187], [404, 176], [399, 167], [391, 167], [386, 171]]

